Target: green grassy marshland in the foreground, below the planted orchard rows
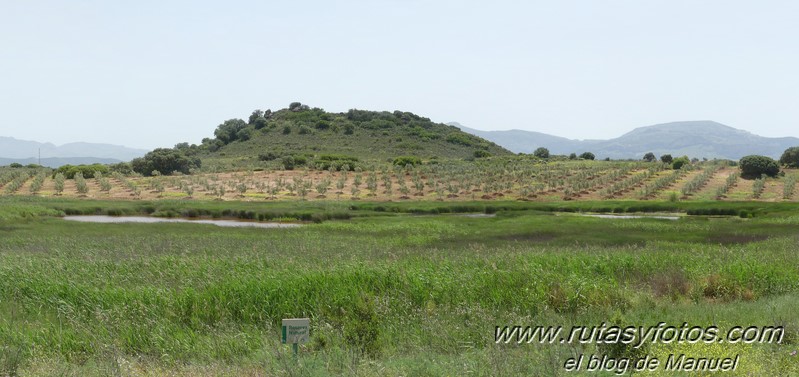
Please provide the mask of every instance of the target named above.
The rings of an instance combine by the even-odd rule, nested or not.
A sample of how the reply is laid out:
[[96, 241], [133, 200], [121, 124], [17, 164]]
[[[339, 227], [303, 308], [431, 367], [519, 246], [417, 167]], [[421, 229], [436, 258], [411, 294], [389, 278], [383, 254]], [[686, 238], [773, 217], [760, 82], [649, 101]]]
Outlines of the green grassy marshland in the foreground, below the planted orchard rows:
[[[495, 326], [661, 321], [784, 326], [780, 344], [643, 351], [740, 355], [724, 375], [799, 374], [799, 213], [787, 204], [712, 204], [755, 216], [678, 221], [524, 203], [483, 208], [496, 217], [418, 215], [459, 212], [435, 203], [276, 204], [319, 220], [352, 214], [295, 229], [71, 223], [57, 215], [137, 213], [138, 204], [2, 204], [0, 376], [573, 375], [568, 358], [613, 351], [496, 344]], [[296, 360], [279, 342], [291, 317], [312, 325]]]

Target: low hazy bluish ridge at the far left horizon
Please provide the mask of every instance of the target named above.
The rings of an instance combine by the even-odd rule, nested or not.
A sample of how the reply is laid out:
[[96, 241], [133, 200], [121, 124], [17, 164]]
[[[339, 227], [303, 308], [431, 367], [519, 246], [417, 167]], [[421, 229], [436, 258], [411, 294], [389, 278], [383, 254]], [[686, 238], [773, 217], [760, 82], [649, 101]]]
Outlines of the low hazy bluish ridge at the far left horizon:
[[101, 143], [69, 143], [55, 145], [37, 141], [17, 140], [0, 136], [0, 158], [38, 159], [41, 151], [42, 163], [46, 158], [95, 158], [99, 160], [130, 161], [147, 153], [144, 149]]

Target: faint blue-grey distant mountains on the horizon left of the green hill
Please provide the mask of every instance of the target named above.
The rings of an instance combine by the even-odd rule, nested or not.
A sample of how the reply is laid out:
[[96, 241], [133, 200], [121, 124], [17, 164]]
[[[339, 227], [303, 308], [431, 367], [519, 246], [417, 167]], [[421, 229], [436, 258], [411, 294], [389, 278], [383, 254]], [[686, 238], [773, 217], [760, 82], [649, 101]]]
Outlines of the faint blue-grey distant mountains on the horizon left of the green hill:
[[44, 166], [58, 167], [66, 164], [113, 163], [130, 161], [144, 156], [144, 149], [128, 148], [121, 145], [98, 143], [69, 143], [54, 145], [36, 141], [17, 140], [13, 137], [0, 136], [0, 165], [10, 163], [35, 164], [39, 161]]

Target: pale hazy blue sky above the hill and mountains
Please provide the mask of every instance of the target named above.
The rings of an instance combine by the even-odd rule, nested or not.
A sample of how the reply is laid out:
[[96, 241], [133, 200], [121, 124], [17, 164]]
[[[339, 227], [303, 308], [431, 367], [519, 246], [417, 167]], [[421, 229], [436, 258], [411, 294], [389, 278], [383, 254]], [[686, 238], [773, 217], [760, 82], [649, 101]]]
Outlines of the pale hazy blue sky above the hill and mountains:
[[611, 138], [799, 136], [799, 2], [0, 2], [0, 136], [199, 143], [301, 101]]

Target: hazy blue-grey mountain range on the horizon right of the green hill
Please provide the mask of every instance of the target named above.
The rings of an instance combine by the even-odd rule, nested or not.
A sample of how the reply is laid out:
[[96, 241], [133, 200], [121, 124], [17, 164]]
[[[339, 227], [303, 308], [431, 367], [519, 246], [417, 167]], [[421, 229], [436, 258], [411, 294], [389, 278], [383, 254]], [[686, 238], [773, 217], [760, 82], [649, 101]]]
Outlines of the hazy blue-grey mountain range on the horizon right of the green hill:
[[668, 153], [675, 157], [738, 160], [750, 154], [779, 158], [785, 149], [799, 146], [795, 137], [763, 137], [706, 120], [639, 127], [610, 140], [573, 140], [522, 130], [481, 131], [456, 122], [448, 124], [516, 153], [532, 153], [538, 147], [545, 147], [552, 154], [592, 152], [597, 158], [640, 159], [652, 152], [656, 156]]

